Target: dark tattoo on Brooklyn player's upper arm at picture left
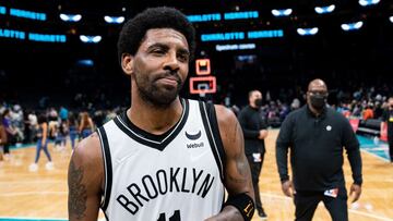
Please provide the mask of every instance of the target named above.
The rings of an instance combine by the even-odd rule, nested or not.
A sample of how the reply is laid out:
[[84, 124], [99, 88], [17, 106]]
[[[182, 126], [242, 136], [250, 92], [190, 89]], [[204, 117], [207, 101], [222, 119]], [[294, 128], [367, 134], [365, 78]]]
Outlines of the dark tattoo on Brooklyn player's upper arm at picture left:
[[85, 185], [82, 184], [83, 168], [76, 168], [73, 160], [70, 162], [69, 168], [69, 213], [73, 214], [78, 219], [85, 217], [87, 193]]

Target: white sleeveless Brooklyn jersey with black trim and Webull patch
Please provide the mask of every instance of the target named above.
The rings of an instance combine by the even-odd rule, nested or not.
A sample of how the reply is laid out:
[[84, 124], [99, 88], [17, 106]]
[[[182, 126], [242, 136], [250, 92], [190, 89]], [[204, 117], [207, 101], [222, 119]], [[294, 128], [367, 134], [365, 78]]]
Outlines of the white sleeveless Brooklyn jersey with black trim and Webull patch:
[[181, 103], [181, 119], [162, 135], [136, 127], [126, 112], [98, 128], [107, 220], [201, 221], [223, 208], [224, 149], [214, 106]]

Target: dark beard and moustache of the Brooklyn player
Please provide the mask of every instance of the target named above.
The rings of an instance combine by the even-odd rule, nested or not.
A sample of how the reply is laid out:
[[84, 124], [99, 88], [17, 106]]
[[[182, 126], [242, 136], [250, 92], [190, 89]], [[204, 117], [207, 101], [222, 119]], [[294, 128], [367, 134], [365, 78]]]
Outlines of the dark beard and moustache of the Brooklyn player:
[[[178, 73], [162, 73], [157, 76], [152, 76], [153, 74], [136, 74], [135, 73], [135, 84], [141, 96], [142, 100], [154, 106], [155, 108], [166, 108], [178, 97], [179, 91], [183, 85]], [[177, 87], [165, 87], [157, 84], [157, 81], [167, 75], [175, 76]]]

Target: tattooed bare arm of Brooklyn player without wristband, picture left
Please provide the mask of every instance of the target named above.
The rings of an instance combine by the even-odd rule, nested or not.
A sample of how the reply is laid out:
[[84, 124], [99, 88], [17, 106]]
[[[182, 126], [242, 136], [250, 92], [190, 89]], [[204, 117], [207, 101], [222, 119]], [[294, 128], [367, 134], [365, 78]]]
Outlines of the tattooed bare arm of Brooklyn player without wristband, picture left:
[[98, 217], [104, 164], [98, 135], [92, 134], [74, 149], [68, 171], [70, 221], [96, 221]]

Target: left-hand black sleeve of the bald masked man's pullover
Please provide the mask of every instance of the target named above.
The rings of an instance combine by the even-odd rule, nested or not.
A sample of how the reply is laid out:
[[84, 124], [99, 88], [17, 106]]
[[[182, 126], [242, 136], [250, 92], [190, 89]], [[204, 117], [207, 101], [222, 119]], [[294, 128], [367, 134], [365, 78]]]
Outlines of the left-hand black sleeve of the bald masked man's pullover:
[[282, 124], [276, 140], [276, 162], [278, 168], [279, 180], [285, 182], [289, 180], [288, 175], [288, 147], [290, 144], [293, 122], [286, 118]]

